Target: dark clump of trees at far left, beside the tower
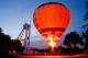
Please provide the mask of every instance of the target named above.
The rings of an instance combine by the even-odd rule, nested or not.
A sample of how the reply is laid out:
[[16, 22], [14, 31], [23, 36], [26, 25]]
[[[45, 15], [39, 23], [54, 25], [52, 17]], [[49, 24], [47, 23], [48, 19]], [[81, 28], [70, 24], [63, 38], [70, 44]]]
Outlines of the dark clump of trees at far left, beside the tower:
[[0, 54], [9, 55], [10, 51], [23, 51], [22, 45], [18, 39], [11, 39], [9, 35], [2, 33], [0, 27]]

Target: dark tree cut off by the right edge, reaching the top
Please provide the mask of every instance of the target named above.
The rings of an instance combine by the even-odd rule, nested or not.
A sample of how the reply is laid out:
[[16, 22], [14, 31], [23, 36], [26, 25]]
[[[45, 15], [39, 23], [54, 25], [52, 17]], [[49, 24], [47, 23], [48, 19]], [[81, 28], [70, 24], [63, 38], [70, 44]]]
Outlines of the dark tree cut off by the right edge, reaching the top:
[[[86, 9], [87, 12], [84, 16], [84, 21], [88, 22], [88, 0], [86, 0]], [[82, 32], [81, 37], [85, 39], [85, 49], [88, 49], [88, 23], [86, 23], [85, 25], [82, 25], [84, 28], [86, 28], [85, 32]]]

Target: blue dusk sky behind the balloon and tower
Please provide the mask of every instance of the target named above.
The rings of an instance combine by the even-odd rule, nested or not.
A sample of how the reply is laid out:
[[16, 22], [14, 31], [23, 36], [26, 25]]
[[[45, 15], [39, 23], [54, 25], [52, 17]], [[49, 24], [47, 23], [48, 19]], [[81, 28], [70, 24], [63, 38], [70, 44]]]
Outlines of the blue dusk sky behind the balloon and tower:
[[0, 27], [4, 34], [9, 34], [12, 39], [15, 39], [26, 22], [31, 24], [31, 47], [47, 48], [47, 43], [33, 24], [33, 13], [42, 3], [53, 1], [65, 4], [70, 12], [70, 23], [57, 46], [63, 43], [67, 33], [76, 31], [81, 34], [84, 31], [81, 26], [86, 23], [82, 21], [86, 13], [86, 0], [0, 0]]

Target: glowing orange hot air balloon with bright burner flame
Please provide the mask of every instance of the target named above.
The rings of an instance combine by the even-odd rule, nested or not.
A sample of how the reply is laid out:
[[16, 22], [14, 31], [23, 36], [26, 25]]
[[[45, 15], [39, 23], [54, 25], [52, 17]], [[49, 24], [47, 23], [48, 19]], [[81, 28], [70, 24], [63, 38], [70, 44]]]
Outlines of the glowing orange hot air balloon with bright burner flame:
[[33, 14], [35, 27], [52, 47], [55, 47], [57, 40], [68, 26], [69, 20], [68, 9], [58, 2], [41, 4]]

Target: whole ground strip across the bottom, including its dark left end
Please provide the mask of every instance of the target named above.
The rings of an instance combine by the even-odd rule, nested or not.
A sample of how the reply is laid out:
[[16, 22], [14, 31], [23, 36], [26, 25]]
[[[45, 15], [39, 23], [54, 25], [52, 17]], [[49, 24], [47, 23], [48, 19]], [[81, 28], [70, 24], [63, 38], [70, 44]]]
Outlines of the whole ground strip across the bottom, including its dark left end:
[[34, 55], [34, 56], [20, 56], [20, 55], [15, 55], [15, 56], [0, 56], [0, 58], [88, 58], [88, 55]]

